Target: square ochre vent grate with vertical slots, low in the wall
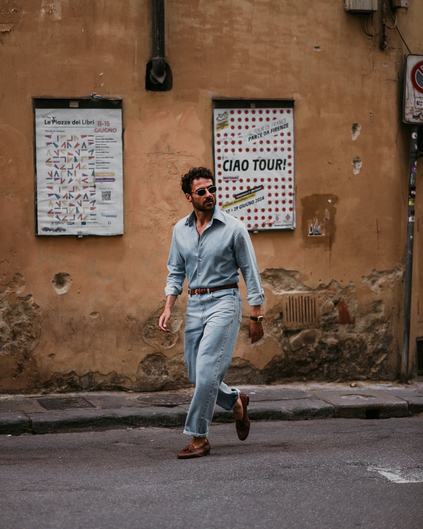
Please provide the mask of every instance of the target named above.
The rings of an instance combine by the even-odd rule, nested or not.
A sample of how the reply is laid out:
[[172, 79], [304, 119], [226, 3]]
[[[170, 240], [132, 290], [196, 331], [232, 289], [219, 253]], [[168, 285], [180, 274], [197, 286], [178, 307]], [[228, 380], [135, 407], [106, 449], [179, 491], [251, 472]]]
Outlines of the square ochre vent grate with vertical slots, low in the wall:
[[284, 330], [313, 329], [319, 326], [317, 294], [287, 294], [282, 298]]

